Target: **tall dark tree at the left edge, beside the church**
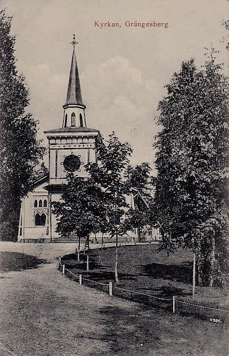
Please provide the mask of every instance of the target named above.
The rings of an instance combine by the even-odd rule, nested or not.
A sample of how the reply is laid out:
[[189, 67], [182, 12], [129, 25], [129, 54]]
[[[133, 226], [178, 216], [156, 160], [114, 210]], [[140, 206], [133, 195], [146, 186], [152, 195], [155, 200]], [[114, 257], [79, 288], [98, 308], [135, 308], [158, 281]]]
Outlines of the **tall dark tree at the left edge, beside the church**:
[[16, 69], [11, 18], [0, 11], [0, 200], [1, 238], [16, 239], [21, 197], [32, 189], [33, 169], [44, 148], [30, 113], [25, 79]]

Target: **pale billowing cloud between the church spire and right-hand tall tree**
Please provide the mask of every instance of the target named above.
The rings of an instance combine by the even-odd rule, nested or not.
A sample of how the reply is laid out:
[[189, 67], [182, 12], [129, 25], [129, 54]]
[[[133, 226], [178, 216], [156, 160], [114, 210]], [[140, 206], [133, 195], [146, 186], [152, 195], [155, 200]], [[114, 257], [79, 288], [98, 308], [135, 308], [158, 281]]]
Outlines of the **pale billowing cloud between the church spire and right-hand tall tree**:
[[119, 55], [98, 66], [87, 66], [81, 83], [83, 98], [88, 99], [89, 125], [104, 136], [115, 131], [120, 140], [130, 142], [133, 164], [149, 161], [153, 166], [156, 100], [163, 91], [159, 84], [153, 78], [144, 79], [139, 69]]

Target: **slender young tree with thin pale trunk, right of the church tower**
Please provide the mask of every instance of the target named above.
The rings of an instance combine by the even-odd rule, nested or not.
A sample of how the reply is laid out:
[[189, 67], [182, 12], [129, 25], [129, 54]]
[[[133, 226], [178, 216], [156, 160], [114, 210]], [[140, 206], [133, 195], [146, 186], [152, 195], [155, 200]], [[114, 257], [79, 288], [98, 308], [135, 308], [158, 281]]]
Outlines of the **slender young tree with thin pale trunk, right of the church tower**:
[[90, 165], [89, 172], [106, 194], [107, 231], [111, 237], [116, 237], [115, 280], [118, 284], [118, 236], [125, 233], [122, 222], [128, 208], [123, 175], [132, 149], [128, 142], [120, 142], [114, 132], [106, 143], [97, 142], [98, 163]]

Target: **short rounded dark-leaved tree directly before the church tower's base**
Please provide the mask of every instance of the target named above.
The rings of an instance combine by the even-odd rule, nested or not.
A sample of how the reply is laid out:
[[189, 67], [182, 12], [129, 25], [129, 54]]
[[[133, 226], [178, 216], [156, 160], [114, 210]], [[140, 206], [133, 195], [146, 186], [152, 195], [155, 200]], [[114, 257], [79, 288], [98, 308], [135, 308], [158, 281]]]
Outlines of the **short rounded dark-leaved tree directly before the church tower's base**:
[[88, 269], [89, 235], [101, 231], [107, 223], [105, 194], [92, 177], [82, 178], [67, 173], [66, 180], [67, 183], [62, 185], [61, 201], [52, 203], [53, 213], [58, 219], [56, 231], [63, 237], [77, 234], [78, 261], [81, 238], [86, 238]]

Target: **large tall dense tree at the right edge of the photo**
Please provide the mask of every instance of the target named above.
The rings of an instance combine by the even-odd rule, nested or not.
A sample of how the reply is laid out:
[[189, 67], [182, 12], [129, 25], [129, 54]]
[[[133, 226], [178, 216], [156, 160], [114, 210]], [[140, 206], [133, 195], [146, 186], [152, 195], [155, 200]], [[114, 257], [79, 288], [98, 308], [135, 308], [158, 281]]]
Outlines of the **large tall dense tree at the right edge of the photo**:
[[155, 143], [161, 248], [192, 248], [203, 285], [222, 285], [227, 274], [228, 93], [215, 53], [199, 71], [190, 60], [174, 73], [159, 103]]

